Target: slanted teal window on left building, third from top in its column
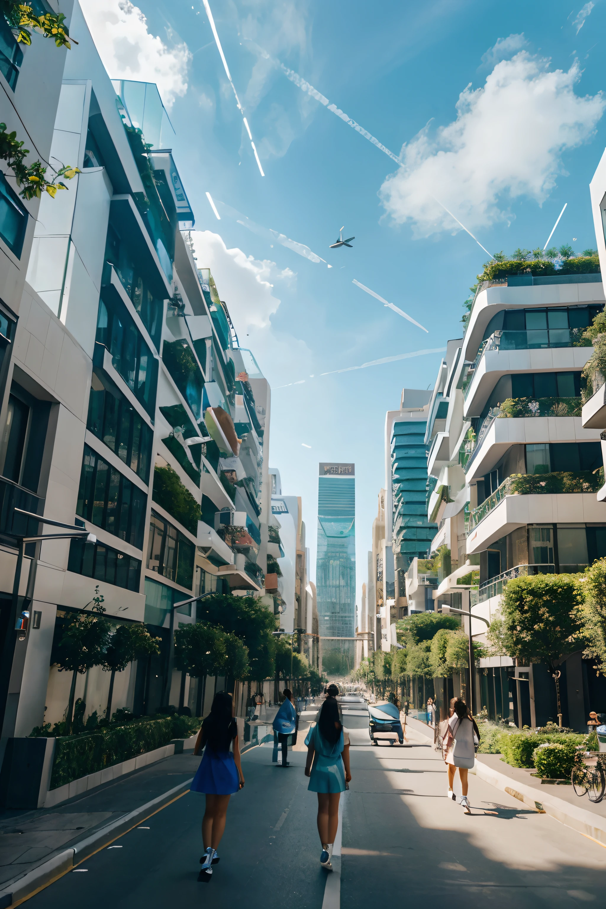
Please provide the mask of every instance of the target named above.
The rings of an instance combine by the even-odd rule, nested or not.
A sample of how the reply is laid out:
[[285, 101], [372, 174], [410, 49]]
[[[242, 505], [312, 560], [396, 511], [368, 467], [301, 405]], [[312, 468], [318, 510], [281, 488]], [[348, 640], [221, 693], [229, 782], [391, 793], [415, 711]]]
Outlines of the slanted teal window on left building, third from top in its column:
[[111, 379], [96, 368], [86, 428], [148, 482], [154, 434]]

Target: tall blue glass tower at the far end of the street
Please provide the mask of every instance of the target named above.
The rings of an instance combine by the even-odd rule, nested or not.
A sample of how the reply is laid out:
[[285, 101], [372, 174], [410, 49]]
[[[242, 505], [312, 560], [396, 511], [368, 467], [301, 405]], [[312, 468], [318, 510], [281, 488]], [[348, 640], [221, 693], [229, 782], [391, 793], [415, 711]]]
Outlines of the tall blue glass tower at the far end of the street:
[[[320, 464], [316, 587], [321, 639], [355, 635], [354, 476], [353, 464]], [[353, 640], [321, 643], [327, 673], [347, 674], [353, 668]]]

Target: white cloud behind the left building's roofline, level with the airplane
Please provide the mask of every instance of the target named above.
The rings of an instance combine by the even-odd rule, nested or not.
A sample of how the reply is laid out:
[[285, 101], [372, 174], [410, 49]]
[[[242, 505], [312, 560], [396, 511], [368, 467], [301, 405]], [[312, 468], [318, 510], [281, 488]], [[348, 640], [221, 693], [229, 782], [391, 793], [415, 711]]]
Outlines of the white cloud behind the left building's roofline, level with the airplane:
[[237, 246], [227, 249], [222, 237], [212, 231], [192, 231], [192, 239], [198, 265], [213, 273], [240, 345], [250, 347], [270, 385], [283, 385], [303, 371], [308, 373], [313, 365], [311, 350], [272, 325], [272, 316], [281, 304], [274, 295], [276, 285], [288, 289], [296, 274], [269, 259], [254, 259]]

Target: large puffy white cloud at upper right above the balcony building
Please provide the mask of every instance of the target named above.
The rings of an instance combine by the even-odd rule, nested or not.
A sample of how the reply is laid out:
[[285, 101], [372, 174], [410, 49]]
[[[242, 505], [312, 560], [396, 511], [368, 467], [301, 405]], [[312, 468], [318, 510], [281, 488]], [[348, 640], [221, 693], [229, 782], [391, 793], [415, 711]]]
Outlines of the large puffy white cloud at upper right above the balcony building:
[[591, 138], [606, 106], [601, 92], [574, 94], [576, 61], [567, 73], [548, 65], [525, 51], [503, 60], [459, 95], [456, 120], [402, 147], [380, 191], [395, 224], [410, 222], [416, 237], [458, 229], [436, 199], [471, 229], [506, 219], [502, 205], [516, 197], [541, 205], [565, 173], [562, 154]]

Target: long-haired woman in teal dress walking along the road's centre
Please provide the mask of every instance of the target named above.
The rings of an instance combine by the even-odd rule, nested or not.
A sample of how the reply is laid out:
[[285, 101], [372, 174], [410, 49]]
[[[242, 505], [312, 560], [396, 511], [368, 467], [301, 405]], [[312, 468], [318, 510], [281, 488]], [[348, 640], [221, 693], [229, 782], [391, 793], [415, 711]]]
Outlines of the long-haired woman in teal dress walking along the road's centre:
[[339, 826], [339, 799], [351, 782], [349, 764], [349, 736], [345, 744], [343, 725], [339, 720], [336, 685], [330, 685], [322, 705], [318, 722], [305, 739], [307, 761], [305, 776], [309, 776], [308, 790], [318, 794], [318, 834], [322, 844], [320, 864], [327, 871], [333, 870], [334, 838]]

